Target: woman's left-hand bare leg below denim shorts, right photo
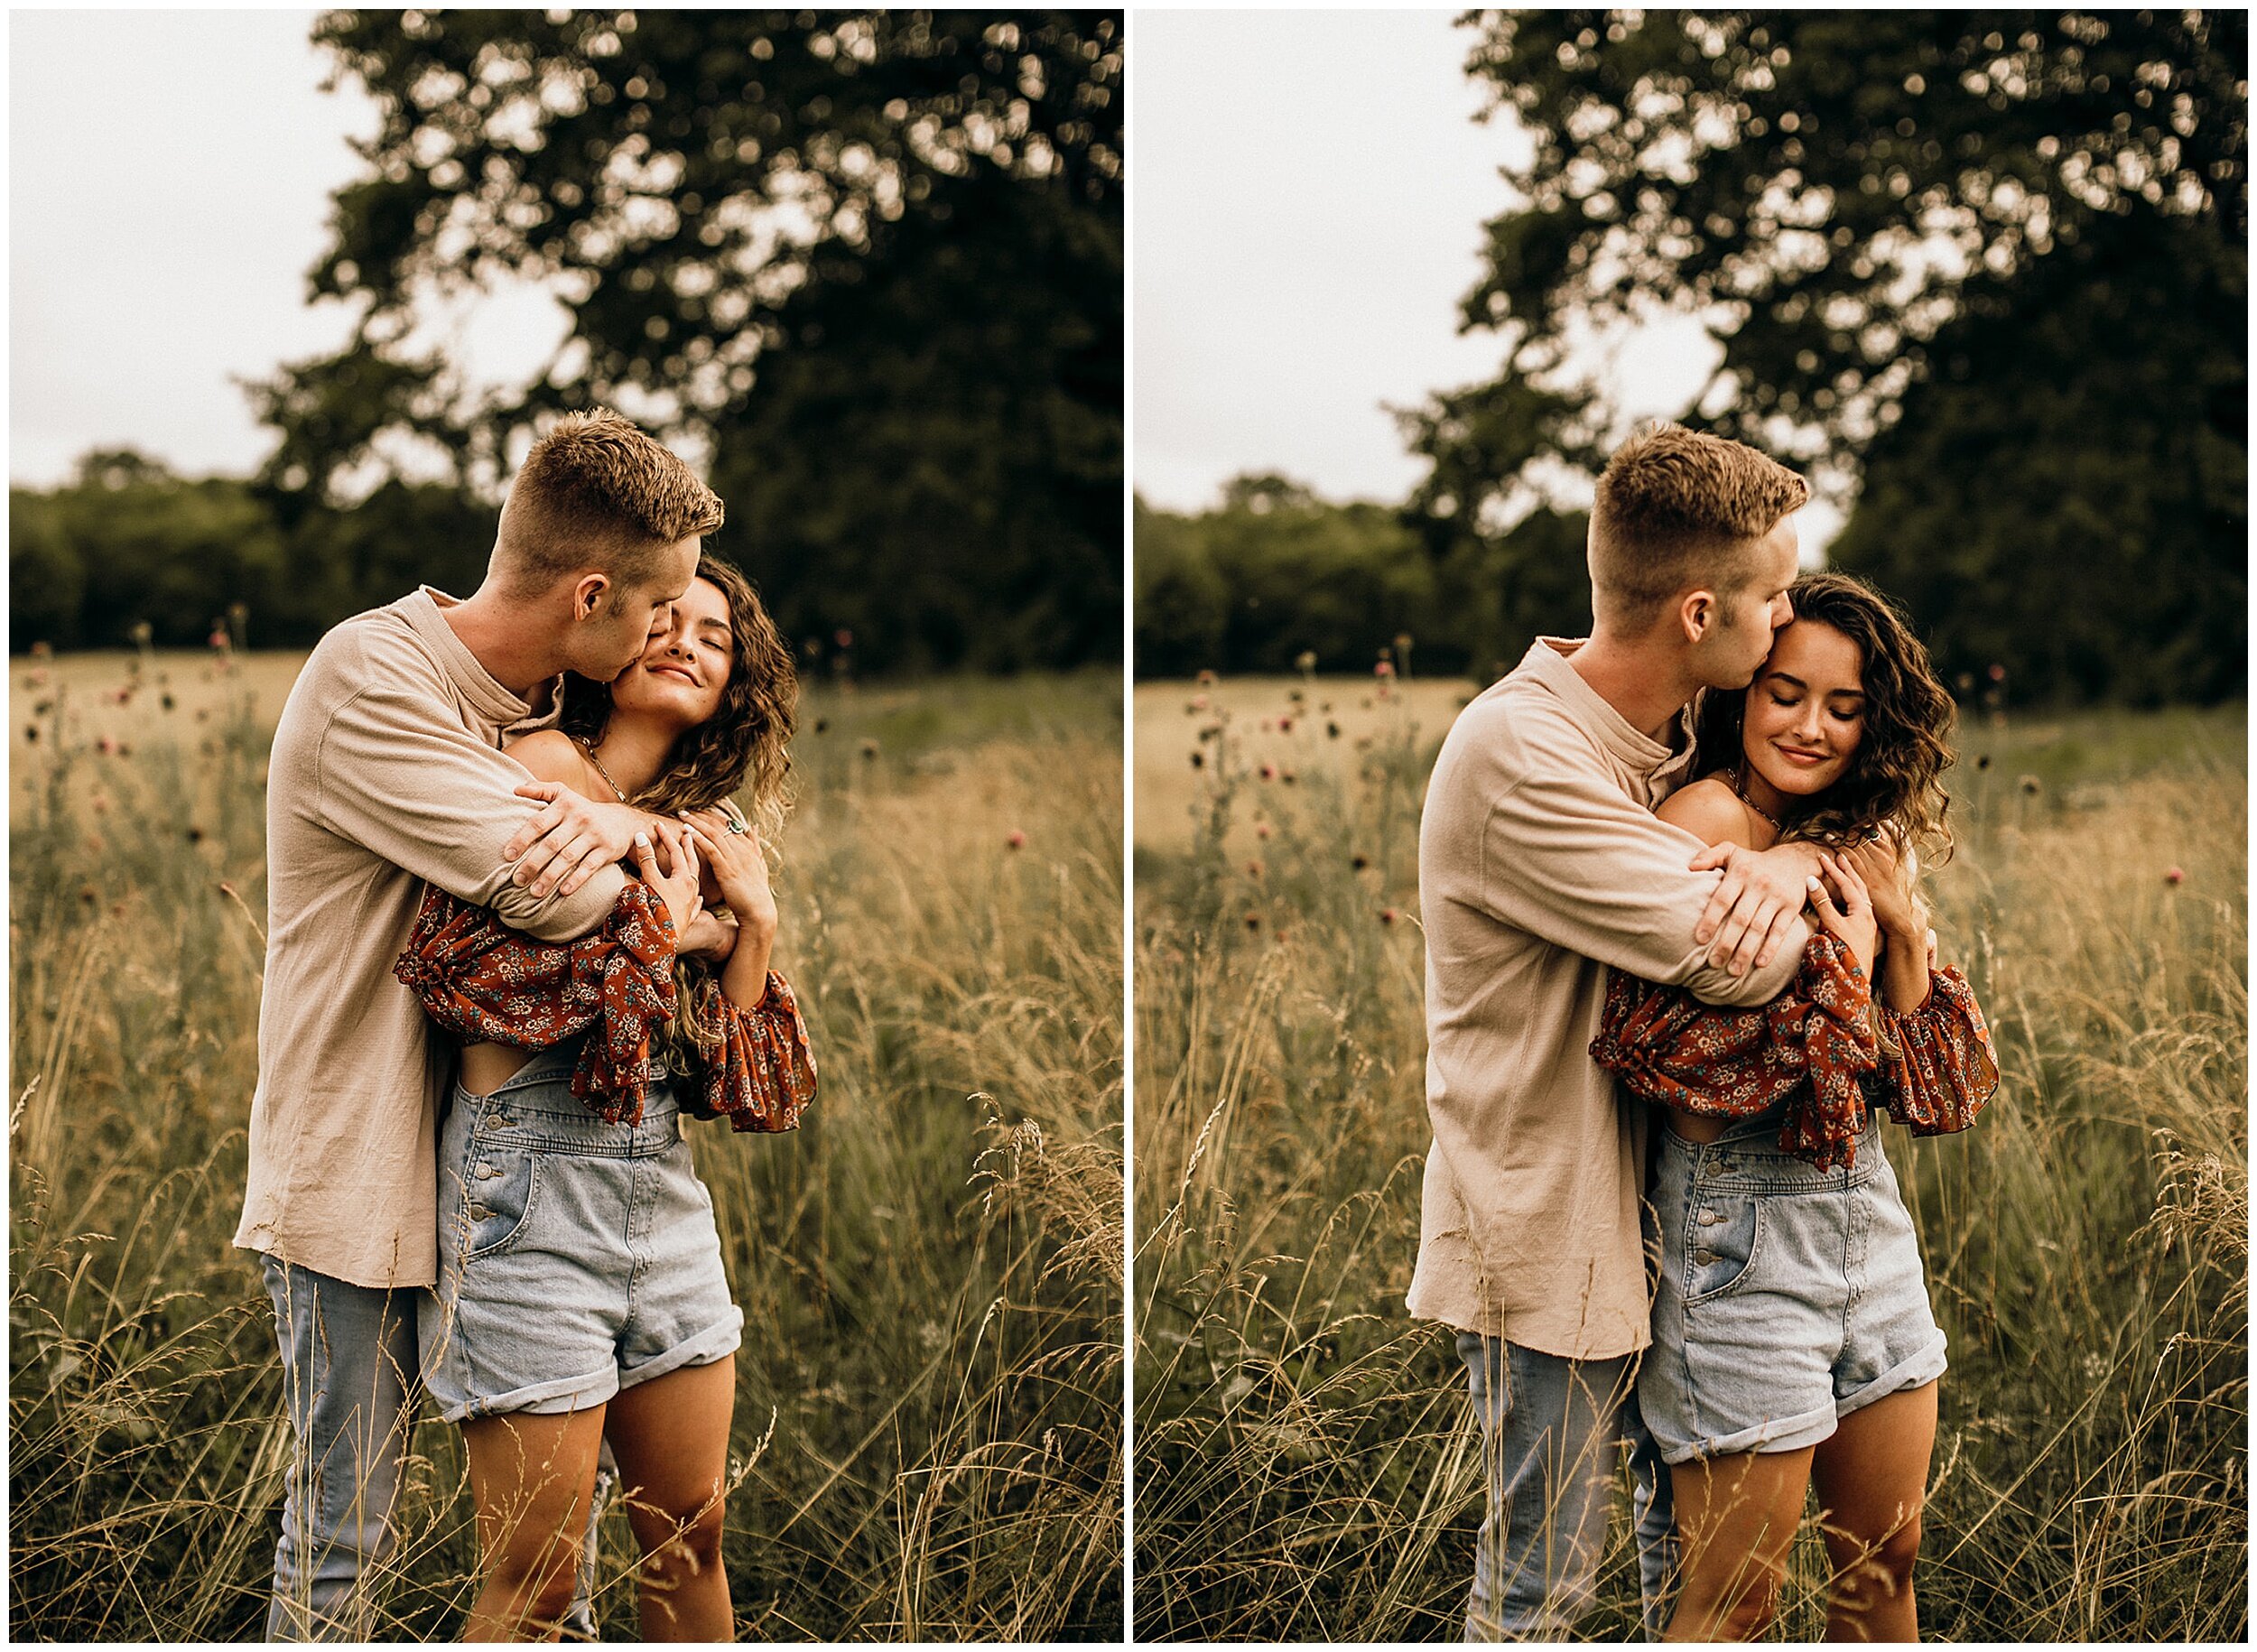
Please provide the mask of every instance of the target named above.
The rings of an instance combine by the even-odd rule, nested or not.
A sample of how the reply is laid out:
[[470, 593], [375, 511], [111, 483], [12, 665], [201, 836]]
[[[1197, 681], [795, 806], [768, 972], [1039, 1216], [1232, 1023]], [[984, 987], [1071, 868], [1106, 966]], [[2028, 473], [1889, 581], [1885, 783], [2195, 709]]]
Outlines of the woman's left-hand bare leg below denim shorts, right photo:
[[1666, 1641], [1754, 1641], [1779, 1611], [1810, 1490], [1810, 1447], [1670, 1469], [1684, 1582]]

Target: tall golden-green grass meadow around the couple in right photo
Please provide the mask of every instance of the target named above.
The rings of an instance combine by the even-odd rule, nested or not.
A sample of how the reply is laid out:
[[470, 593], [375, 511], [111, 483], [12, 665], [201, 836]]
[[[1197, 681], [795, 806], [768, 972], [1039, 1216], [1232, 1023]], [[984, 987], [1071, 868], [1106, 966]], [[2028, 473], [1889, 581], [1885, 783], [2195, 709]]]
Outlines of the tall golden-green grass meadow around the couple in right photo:
[[[1417, 1325], [1417, 801], [1474, 684], [1135, 695], [1135, 1627], [1458, 1638], [1478, 1431]], [[2248, 1634], [2246, 711], [1982, 718], [1932, 876], [2002, 1086], [1889, 1155], [1950, 1336], [1939, 1641]], [[1149, 776], [1149, 779], [1147, 779]], [[1616, 1521], [1580, 1634], [1636, 1638]], [[1774, 1638], [1817, 1638], [1806, 1523]]]

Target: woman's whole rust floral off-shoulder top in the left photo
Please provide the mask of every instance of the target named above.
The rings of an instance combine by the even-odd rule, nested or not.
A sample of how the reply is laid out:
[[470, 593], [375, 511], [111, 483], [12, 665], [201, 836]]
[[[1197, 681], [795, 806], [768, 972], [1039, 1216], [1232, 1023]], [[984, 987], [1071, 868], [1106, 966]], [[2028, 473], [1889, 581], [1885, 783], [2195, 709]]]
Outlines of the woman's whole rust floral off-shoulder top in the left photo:
[[[650, 1040], [675, 1018], [675, 925], [650, 887], [630, 878], [603, 928], [564, 943], [429, 889], [393, 975], [463, 1040], [546, 1049], [585, 1031], [571, 1092], [607, 1122], [643, 1117]], [[738, 1131], [794, 1128], [815, 1099], [815, 1052], [792, 988], [770, 970], [756, 1009], [718, 988], [702, 1009], [715, 1034], [697, 1047], [702, 1095], [684, 1106], [702, 1101]]]

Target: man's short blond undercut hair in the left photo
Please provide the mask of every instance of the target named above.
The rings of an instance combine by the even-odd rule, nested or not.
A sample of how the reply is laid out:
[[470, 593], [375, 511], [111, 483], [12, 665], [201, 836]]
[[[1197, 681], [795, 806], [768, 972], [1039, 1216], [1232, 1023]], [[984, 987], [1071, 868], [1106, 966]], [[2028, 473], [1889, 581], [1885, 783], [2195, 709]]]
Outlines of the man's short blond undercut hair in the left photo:
[[494, 564], [515, 596], [609, 573], [618, 603], [657, 573], [661, 551], [720, 521], [713, 490], [657, 440], [609, 408], [567, 413], [510, 483]]

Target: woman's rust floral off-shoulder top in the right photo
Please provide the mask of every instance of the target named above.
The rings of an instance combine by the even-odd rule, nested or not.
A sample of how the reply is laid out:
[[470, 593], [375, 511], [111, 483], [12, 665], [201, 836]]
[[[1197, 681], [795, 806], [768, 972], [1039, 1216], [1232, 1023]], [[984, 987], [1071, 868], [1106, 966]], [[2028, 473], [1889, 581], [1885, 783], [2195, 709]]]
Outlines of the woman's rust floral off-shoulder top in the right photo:
[[1997, 1052], [1966, 975], [1930, 970], [1927, 1000], [1896, 1011], [1873, 1000], [1848, 948], [1824, 930], [1769, 1004], [1727, 1009], [1609, 973], [1598, 1025], [1591, 1058], [1632, 1095], [1720, 1119], [1783, 1104], [1779, 1146], [1819, 1169], [1855, 1160], [1869, 1099], [1914, 1135], [1948, 1135], [1997, 1090]]

